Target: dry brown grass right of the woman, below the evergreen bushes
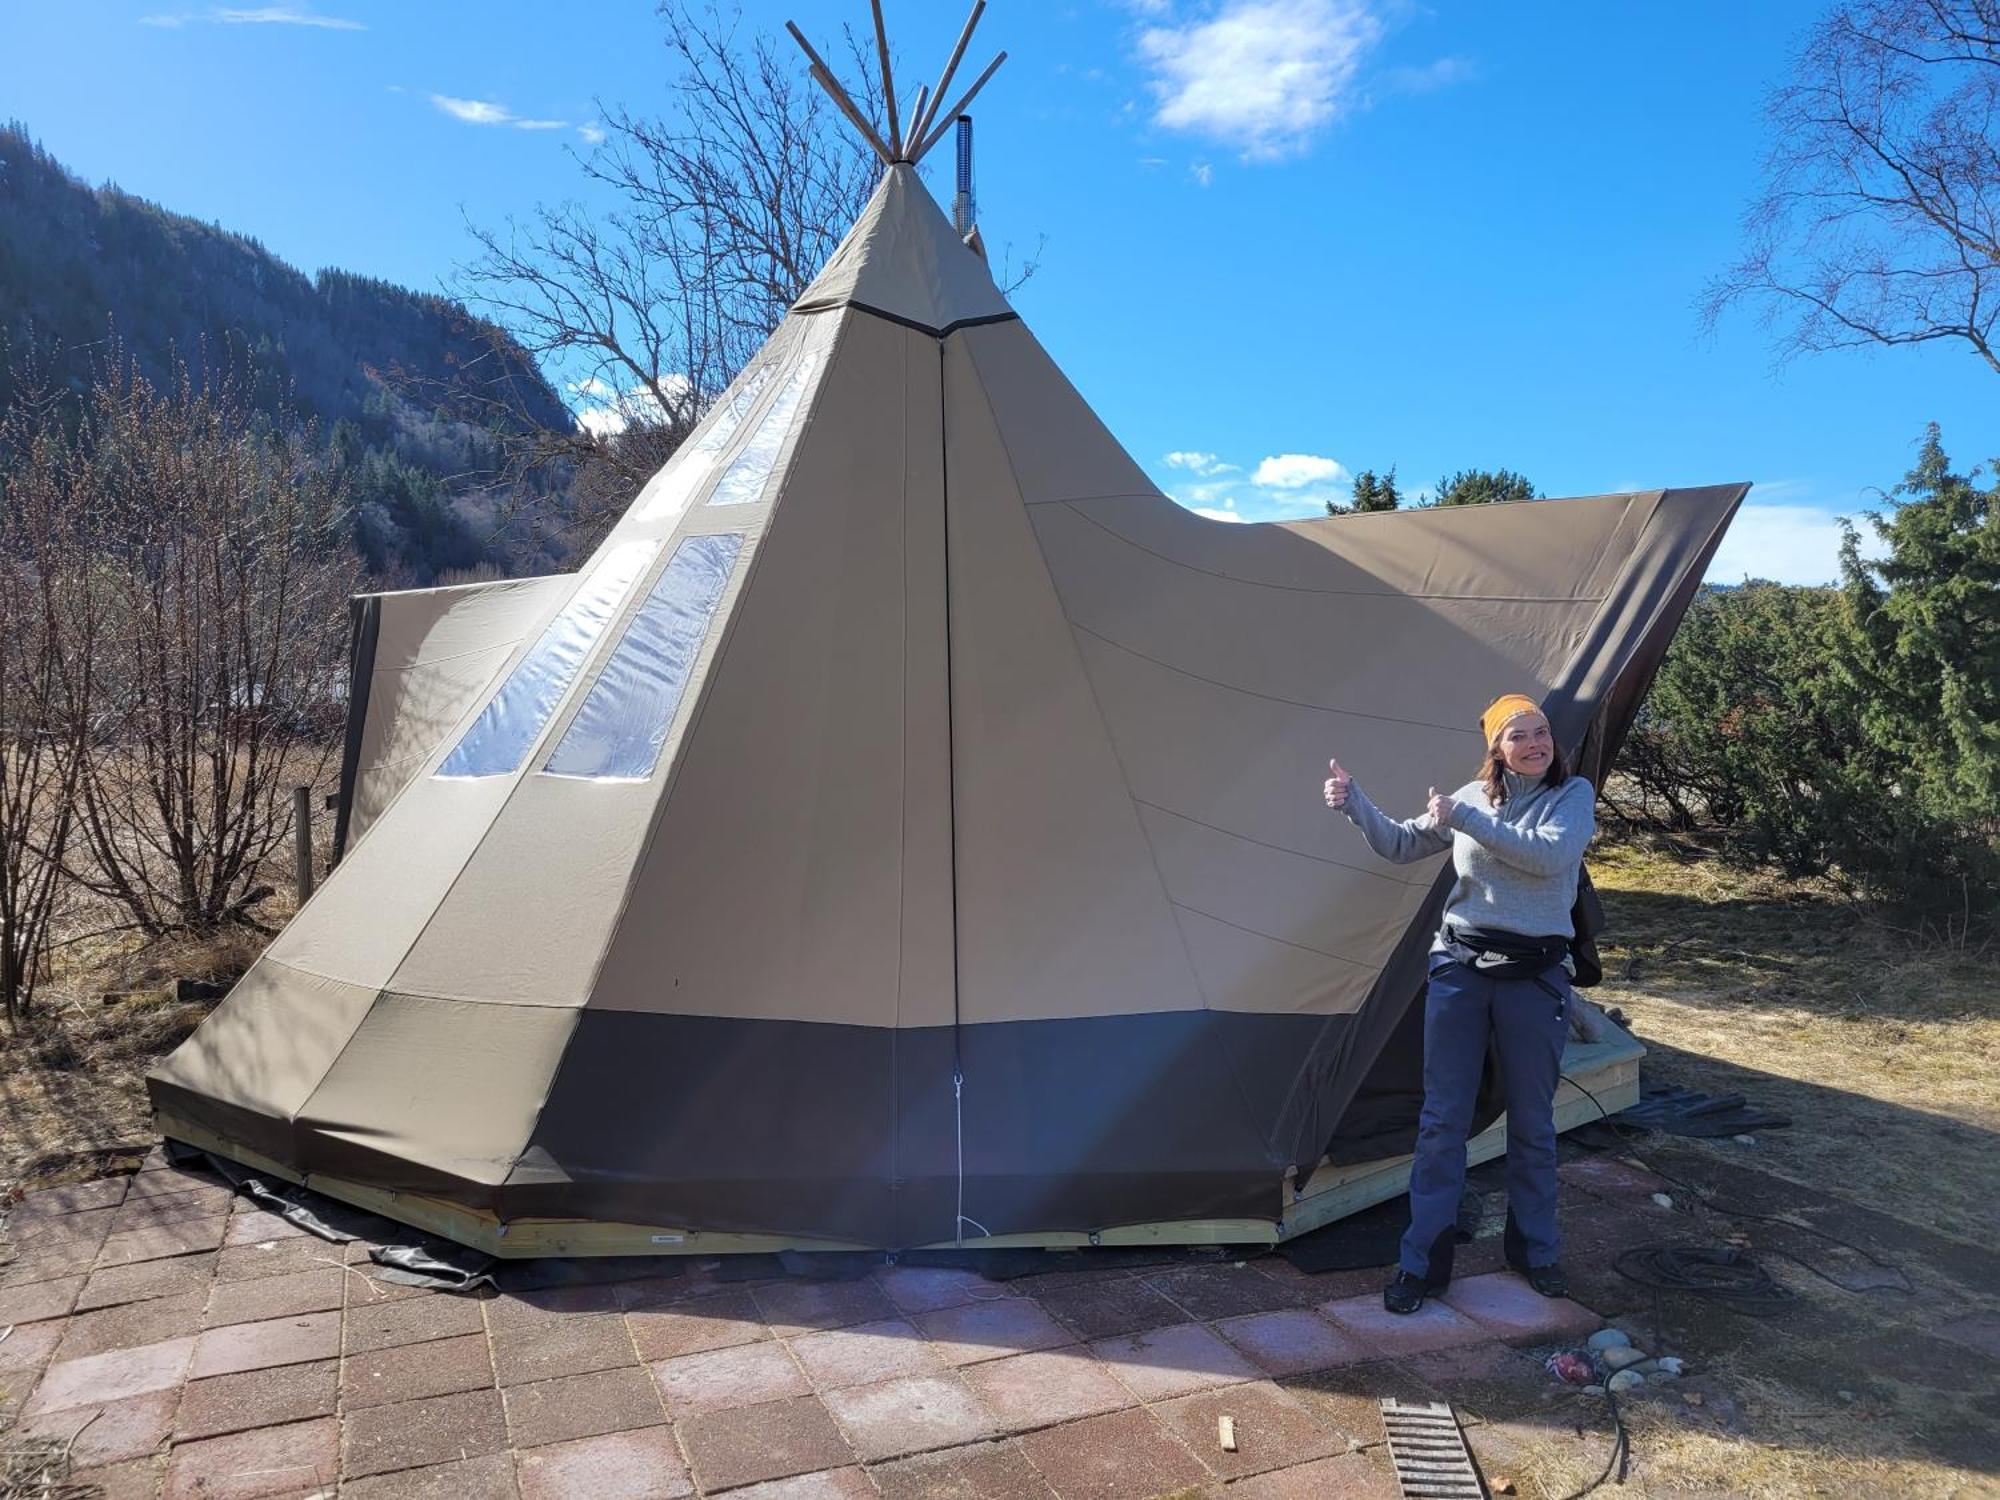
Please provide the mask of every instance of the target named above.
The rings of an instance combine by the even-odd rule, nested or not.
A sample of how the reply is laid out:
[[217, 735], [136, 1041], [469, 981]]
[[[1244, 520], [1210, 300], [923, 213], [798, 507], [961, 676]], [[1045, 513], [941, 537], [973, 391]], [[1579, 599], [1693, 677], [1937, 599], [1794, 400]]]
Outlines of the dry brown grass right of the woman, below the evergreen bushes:
[[1602, 1002], [1680, 1054], [1674, 1082], [1794, 1118], [1716, 1150], [2000, 1240], [2000, 954], [1924, 942], [1832, 886], [1644, 844], [1600, 846], [1590, 870], [1608, 914]]

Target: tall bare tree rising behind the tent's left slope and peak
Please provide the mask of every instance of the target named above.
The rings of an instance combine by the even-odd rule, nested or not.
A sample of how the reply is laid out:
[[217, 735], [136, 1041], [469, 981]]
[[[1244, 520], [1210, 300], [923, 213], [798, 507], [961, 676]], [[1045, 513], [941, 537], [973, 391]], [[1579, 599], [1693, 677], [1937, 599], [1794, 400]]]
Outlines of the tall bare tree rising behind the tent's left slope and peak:
[[[846, 234], [874, 154], [798, 66], [740, 14], [662, 0], [668, 110], [604, 110], [580, 158], [616, 208], [536, 208], [472, 228], [454, 290], [594, 408], [534, 430], [532, 462], [586, 470], [586, 508], [630, 500], [778, 326]], [[856, 38], [850, 54], [860, 60]], [[856, 68], [860, 78], [872, 78]], [[864, 88], [880, 112], [878, 90]], [[522, 424], [514, 424], [516, 428]]]

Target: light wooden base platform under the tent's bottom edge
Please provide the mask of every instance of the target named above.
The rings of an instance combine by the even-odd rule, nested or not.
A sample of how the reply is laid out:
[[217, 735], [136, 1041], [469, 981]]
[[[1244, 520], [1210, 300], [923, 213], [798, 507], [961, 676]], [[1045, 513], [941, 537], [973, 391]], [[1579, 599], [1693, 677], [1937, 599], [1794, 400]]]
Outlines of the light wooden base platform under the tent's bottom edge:
[[[1638, 1104], [1638, 1064], [1646, 1056], [1628, 1032], [1612, 1026], [1602, 1042], [1572, 1042], [1562, 1058], [1556, 1090], [1556, 1130], [1572, 1130], [1606, 1114]], [[318, 1172], [300, 1174], [254, 1150], [224, 1140], [192, 1120], [166, 1110], [154, 1124], [168, 1140], [178, 1140], [216, 1156], [226, 1156], [252, 1172], [310, 1188], [354, 1208], [410, 1224], [426, 1234], [482, 1250], [502, 1260], [538, 1256], [726, 1256], [774, 1250], [874, 1250], [848, 1240], [812, 1240], [786, 1234], [722, 1234], [692, 1226], [604, 1224], [594, 1220], [516, 1218], [498, 1220], [476, 1208], [414, 1192], [390, 1192], [364, 1182], [348, 1182]], [[1506, 1150], [1506, 1120], [1496, 1120], [1466, 1144], [1472, 1164]], [[1410, 1156], [1350, 1166], [1322, 1164], [1300, 1188], [1290, 1174], [1284, 1182], [1284, 1216], [1168, 1220], [1160, 1224], [1114, 1224], [1094, 1234], [1056, 1230], [1046, 1234], [970, 1236], [942, 1240], [926, 1250], [1072, 1250], [1080, 1246], [1174, 1246], [1244, 1244], [1272, 1246], [1308, 1234], [1336, 1218], [1386, 1202], [1410, 1186]]]

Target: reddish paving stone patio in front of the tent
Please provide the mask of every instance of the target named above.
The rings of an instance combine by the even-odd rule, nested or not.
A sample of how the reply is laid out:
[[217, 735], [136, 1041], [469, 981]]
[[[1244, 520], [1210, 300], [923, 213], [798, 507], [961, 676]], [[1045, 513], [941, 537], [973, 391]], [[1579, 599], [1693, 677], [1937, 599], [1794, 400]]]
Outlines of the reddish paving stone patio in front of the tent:
[[[1634, 1176], [1566, 1170], [1574, 1244], [1662, 1232]], [[114, 1500], [1394, 1496], [1380, 1396], [1448, 1398], [1502, 1442], [1564, 1400], [1532, 1346], [1638, 1302], [1616, 1278], [1550, 1302], [1484, 1272], [1388, 1318], [1380, 1272], [1276, 1258], [1016, 1282], [574, 1262], [548, 1276], [588, 1282], [508, 1268], [516, 1290], [458, 1296], [158, 1160], [30, 1194], [8, 1240], [6, 1412], [74, 1440], [76, 1478]], [[1970, 1350], [1992, 1330], [1940, 1328]]]

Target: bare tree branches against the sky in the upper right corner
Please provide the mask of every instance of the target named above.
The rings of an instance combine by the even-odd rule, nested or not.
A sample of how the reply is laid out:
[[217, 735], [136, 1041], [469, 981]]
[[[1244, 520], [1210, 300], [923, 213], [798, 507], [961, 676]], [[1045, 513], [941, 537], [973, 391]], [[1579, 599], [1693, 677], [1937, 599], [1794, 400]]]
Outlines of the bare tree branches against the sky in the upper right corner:
[[1860, 0], [1808, 34], [1746, 252], [1702, 298], [1780, 358], [1958, 340], [2000, 372], [2000, 0]]

